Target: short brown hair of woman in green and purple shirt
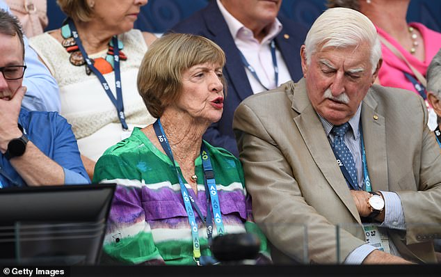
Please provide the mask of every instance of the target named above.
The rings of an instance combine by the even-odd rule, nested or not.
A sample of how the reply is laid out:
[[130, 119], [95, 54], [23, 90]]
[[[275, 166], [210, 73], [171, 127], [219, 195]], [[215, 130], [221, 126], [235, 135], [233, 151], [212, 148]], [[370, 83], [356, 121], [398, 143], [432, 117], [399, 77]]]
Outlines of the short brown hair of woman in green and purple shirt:
[[[223, 67], [225, 54], [216, 43], [200, 35], [168, 33], [155, 40], [145, 53], [138, 72], [138, 92], [155, 118], [182, 92], [182, 73], [193, 65], [213, 63]], [[226, 82], [220, 80], [226, 90]]]

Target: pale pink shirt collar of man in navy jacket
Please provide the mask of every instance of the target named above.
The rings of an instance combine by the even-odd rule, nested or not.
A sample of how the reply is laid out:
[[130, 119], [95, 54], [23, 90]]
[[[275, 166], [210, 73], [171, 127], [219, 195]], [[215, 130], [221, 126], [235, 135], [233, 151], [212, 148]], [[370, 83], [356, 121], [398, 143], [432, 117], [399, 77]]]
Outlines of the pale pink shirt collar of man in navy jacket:
[[[250, 33], [250, 36], [252, 36], [252, 31], [248, 29], [246, 26], [244, 26], [239, 20], [236, 19], [236, 17], [232, 16], [231, 13], [228, 12], [228, 10], [223, 6], [222, 3], [220, 3], [220, 0], [216, 0], [216, 3], [218, 4], [220, 13], [223, 15], [223, 18], [225, 19], [225, 22], [227, 22], [228, 29], [230, 30], [230, 33], [234, 40], [236, 38], [239, 38], [241, 36], [241, 33], [244, 33], [245, 31], [248, 31]], [[277, 17], [275, 17], [275, 20], [273, 24], [271, 24], [271, 27], [268, 31], [268, 33], [265, 35], [265, 38], [262, 40], [262, 44], [264, 42], [268, 42], [273, 40], [281, 31], [282, 31], [282, 23], [279, 21]]]

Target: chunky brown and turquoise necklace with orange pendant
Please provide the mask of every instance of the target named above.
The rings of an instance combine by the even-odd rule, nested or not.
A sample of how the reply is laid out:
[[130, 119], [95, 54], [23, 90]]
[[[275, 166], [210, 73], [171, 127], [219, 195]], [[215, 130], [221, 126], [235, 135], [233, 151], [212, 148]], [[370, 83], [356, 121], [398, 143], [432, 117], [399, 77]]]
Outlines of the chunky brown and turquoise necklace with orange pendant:
[[[61, 35], [63, 36], [63, 42], [61, 42], [61, 45], [65, 47], [66, 51], [70, 53], [69, 61], [72, 63], [72, 65], [75, 66], [81, 66], [86, 65], [86, 61], [83, 58], [83, 54], [81, 54], [81, 51], [79, 50], [79, 47], [77, 45], [77, 42], [75, 42], [75, 39], [72, 37], [72, 31], [70, 30], [69, 24], [64, 24], [61, 27]], [[118, 49], [121, 50], [124, 48], [124, 44], [122, 41], [118, 40]], [[127, 56], [120, 51], [120, 61], [126, 61]], [[113, 71], [113, 42], [112, 40], [109, 42], [109, 48], [106, 52], [105, 58], [91, 58], [90, 61], [93, 63], [95, 68], [101, 74], [107, 74]], [[91, 70], [86, 65], [86, 74], [90, 75]]]

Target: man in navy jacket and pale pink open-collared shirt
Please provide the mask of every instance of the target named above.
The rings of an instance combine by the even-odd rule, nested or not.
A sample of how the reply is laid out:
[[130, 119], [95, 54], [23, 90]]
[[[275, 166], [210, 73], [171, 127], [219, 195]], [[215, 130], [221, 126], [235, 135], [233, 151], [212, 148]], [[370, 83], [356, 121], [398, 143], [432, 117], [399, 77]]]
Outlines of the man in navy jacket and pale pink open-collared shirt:
[[282, 0], [211, 0], [207, 8], [180, 22], [173, 31], [203, 35], [227, 56], [228, 89], [222, 118], [204, 139], [239, 155], [232, 129], [233, 113], [253, 93], [301, 77], [298, 50], [306, 29], [279, 16]]

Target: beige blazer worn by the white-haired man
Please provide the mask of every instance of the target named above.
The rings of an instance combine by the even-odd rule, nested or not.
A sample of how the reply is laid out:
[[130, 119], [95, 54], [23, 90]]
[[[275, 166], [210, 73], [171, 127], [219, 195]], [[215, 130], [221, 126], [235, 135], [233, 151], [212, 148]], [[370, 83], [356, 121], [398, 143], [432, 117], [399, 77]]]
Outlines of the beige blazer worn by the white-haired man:
[[[441, 228], [423, 224], [441, 225], [441, 157], [424, 102], [415, 93], [374, 85], [362, 102], [361, 122], [373, 190], [395, 191], [403, 205], [407, 230], [390, 230], [390, 237], [405, 258], [434, 262], [433, 246], [424, 241], [441, 238]], [[364, 244], [360, 216], [304, 79], [248, 97], [233, 127], [255, 221], [275, 263], [342, 262]]]

